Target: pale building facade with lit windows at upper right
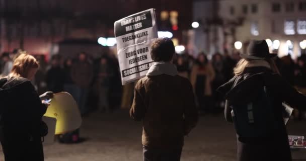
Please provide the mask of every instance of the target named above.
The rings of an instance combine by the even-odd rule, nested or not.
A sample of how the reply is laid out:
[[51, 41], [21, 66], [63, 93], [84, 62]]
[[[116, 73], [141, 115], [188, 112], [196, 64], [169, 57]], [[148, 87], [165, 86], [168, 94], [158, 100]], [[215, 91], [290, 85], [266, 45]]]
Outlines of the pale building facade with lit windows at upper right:
[[304, 53], [300, 44], [306, 39], [305, 0], [219, 0], [217, 10], [222, 30], [219, 48], [233, 51], [240, 41], [245, 52], [250, 40], [267, 39], [271, 52], [279, 56], [296, 58]]

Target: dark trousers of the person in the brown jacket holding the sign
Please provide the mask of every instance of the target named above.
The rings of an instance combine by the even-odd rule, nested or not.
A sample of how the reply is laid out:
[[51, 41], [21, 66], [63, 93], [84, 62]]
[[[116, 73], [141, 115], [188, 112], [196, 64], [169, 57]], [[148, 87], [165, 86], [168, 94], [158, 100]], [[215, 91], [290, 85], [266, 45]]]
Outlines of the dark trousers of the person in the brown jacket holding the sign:
[[175, 149], [160, 149], [143, 146], [144, 161], [180, 161], [182, 147]]

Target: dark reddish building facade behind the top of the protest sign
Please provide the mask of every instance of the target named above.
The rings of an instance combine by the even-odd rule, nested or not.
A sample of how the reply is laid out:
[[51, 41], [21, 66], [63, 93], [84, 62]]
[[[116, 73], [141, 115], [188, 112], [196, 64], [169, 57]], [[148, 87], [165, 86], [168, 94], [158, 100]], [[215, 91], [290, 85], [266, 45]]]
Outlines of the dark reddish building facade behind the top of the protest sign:
[[[0, 0], [0, 52], [23, 48], [33, 54], [52, 54], [67, 39], [114, 37], [116, 20], [150, 8], [156, 9], [159, 29], [171, 30], [178, 39], [190, 27], [192, 5], [183, 0]], [[175, 13], [176, 30], [168, 25], [170, 16], [161, 20], [163, 11]]]

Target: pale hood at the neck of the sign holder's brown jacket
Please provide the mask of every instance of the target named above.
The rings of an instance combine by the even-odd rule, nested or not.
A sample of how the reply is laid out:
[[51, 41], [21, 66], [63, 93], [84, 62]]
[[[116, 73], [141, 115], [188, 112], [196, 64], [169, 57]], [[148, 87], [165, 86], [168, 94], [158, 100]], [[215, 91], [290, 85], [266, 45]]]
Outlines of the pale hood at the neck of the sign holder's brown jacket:
[[178, 70], [176, 66], [170, 62], [154, 62], [146, 73], [146, 76], [156, 76], [162, 74], [175, 76], [178, 74]]

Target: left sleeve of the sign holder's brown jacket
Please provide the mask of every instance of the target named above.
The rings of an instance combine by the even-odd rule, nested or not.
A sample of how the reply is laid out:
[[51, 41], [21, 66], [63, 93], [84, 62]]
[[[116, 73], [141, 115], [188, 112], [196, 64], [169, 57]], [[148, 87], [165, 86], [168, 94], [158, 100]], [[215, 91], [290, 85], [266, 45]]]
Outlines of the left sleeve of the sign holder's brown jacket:
[[140, 91], [142, 91], [144, 87], [141, 87], [139, 84], [138, 82], [135, 86], [133, 104], [130, 109], [130, 117], [135, 121], [141, 121], [145, 114], [143, 95], [141, 96], [140, 94]]

